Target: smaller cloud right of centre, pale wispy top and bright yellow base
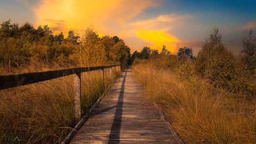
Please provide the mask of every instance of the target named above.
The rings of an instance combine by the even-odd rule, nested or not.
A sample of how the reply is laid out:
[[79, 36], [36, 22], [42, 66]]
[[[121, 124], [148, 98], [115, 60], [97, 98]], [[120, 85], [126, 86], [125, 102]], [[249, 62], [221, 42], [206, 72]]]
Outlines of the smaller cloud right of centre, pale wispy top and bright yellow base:
[[175, 53], [179, 47], [178, 43], [181, 40], [174, 36], [174, 34], [171, 34], [170, 30], [180, 26], [191, 18], [192, 16], [189, 14], [179, 15], [170, 13], [152, 19], [130, 23], [130, 26], [136, 29], [136, 36], [151, 44], [151, 49], [161, 51], [164, 45], [170, 52]]

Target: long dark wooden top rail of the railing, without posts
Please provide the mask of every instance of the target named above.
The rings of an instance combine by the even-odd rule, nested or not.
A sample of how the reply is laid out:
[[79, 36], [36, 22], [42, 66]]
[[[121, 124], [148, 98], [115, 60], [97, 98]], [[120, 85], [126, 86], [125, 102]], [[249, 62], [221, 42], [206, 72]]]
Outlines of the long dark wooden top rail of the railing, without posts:
[[0, 90], [17, 87], [17, 86], [28, 85], [36, 82], [52, 80], [53, 78], [68, 76], [75, 73], [95, 71], [98, 69], [109, 68], [109, 67], [113, 67], [113, 66], [75, 67], [75, 68], [58, 69], [53, 71], [0, 75]]

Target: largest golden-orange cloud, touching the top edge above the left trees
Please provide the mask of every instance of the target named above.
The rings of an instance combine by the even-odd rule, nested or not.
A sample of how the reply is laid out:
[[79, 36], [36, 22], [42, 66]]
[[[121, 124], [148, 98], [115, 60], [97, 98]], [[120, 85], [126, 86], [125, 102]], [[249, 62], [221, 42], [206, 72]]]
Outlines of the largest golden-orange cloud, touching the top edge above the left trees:
[[41, 0], [33, 11], [37, 25], [48, 24], [56, 31], [72, 28], [83, 33], [82, 29], [93, 25], [101, 33], [120, 35], [127, 31], [127, 21], [144, 9], [157, 6], [155, 0]]

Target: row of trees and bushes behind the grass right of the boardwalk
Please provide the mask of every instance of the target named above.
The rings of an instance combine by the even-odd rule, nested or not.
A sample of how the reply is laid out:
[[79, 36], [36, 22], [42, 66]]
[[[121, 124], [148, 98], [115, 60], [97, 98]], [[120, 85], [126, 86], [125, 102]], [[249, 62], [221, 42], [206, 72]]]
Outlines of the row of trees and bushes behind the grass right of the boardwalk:
[[170, 68], [180, 80], [188, 81], [199, 76], [215, 87], [229, 87], [236, 92], [245, 90], [255, 97], [256, 39], [252, 33], [251, 30], [243, 38], [243, 49], [238, 57], [223, 44], [219, 29], [215, 27], [196, 57], [192, 48], [187, 47], [180, 48], [177, 54], [171, 54], [165, 46], [161, 53], [144, 47], [141, 52], [132, 54], [131, 61], [133, 64], [151, 62], [160, 69]]

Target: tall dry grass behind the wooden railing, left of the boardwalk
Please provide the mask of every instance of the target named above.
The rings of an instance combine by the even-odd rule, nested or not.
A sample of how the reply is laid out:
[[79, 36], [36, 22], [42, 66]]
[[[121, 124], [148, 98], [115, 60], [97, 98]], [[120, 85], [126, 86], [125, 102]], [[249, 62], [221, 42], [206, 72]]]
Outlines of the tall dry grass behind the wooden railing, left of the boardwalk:
[[[22, 71], [38, 68], [30, 66]], [[105, 69], [105, 86], [100, 71], [81, 74], [83, 112], [110, 85], [109, 73]], [[73, 75], [0, 91], [0, 143], [12, 142], [17, 136], [29, 143], [60, 143], [76, 125], [73, 103]]]

